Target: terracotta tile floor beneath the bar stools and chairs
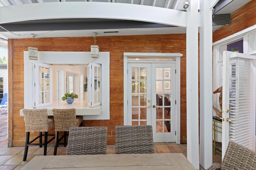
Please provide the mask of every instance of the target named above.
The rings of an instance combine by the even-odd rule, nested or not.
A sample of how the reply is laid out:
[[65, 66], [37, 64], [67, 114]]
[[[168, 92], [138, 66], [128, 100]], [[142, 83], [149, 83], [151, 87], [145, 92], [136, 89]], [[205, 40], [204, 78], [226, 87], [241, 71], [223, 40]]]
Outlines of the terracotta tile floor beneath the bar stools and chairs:
[[[43, 155], [44, 148], [38, 146], [29, 147], [28, 157], [26, 161], [23, 161], [24, 147], [7, 147], [7, 113], [0, 114], [0, 170], [20, 170], [26, 163], [28, 163], [34, 156]], [[186, 155], [187, 146], [186, 144], [176, 143], [154, 143], [155, 153], [183, 153]], [[47, 155], [53, 155], [54, 146], [48, 145]], [[115, 145], [107, 146], [107, 154], [115, 153]], [[57, 155], [65, 155], [66, 147], [58, 147]], [[221, 162], [221, 155], [216, 154], [212, 156], [213, 162]], [[200, 167], [200, 170], [203, 170]]]

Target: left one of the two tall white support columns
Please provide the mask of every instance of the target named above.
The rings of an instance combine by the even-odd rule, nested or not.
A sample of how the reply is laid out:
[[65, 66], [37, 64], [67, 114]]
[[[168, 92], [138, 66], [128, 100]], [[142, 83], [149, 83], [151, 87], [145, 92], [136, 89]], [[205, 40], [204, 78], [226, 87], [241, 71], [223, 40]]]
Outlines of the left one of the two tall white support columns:
[[186, 29], [187, 158], [199, 169], [198, 3], [190, 0]]

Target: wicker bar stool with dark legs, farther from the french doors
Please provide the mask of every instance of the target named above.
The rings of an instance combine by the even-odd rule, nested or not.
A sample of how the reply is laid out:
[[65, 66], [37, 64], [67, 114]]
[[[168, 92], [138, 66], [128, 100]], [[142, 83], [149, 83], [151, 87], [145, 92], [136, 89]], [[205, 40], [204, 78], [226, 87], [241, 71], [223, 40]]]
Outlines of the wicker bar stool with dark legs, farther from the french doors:
[[[23, 161], [27, 159], [28, 146], [39, 145], [39, 147], [44, 146], [44, 155], [47, 152], [47, 144], [54, 139], [52, 137], [48, 140], [48, 130], [54, 125], [53, 117], [47, 114], [47, 109], [23, 109], [24, 121], [25, 121], [25, 131], [26, 131], [26, 144], [24, 150]], [[30, 141], [30, 132], [39, 132], [39, 135]], [[44, 132], [44, 134], [42, 134]], [[42, 143], [42, 137], [44, 136], [44, 143]], [[34, 143], [39, 138], [39, 143]]]

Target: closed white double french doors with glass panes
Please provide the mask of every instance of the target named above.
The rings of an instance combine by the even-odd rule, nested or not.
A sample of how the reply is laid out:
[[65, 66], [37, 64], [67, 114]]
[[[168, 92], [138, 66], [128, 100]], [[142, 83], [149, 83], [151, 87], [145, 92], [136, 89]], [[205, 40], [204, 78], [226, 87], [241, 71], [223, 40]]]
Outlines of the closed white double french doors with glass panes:
[[175, 142], [175, 64], [128, 63], [128, 125], [152, 125], [154, 142]]

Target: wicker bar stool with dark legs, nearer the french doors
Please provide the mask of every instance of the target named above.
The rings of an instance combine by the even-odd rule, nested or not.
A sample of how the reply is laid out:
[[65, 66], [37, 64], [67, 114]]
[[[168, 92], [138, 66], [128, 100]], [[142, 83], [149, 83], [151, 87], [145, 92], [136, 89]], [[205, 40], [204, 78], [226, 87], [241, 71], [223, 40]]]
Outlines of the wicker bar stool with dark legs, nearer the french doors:
[[[78, 127], [82, 125], [83, 117], [76, 116], [76, 109], [52, 109], [54, 124], [55, 124], [55, 143], [54, 143], [54, 155], [57, 154], [57, 147], [59, 145], [64, 145], [66, 147], [67, 136], [70, 127]], [[59, 132], [64, 132], [64, 134], [59, 138]], [[64, 143], [60, 141], [64, 138]]]

